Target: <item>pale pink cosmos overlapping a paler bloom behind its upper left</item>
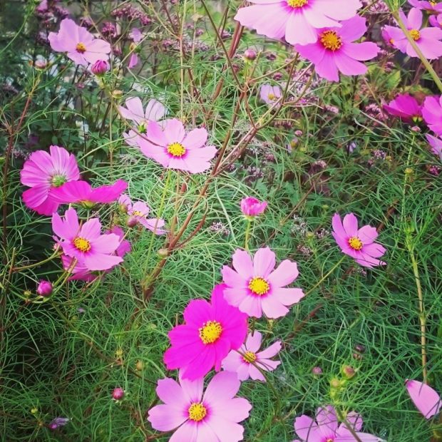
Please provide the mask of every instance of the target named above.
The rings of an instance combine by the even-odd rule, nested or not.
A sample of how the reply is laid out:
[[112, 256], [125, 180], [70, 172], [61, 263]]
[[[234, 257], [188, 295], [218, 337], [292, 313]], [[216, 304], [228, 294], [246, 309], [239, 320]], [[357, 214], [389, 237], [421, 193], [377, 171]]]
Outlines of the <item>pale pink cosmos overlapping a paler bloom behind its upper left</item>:
[[176, 118], [166, 120], [164, 128], [150, 121], [147, 138], [149, 141], [138, 138], [141, 152], [168, 169], [204, 172], [217, 153], [215, 146], [206, 145], [207, 130], [193, 129], [186, 135], [183, 123]]

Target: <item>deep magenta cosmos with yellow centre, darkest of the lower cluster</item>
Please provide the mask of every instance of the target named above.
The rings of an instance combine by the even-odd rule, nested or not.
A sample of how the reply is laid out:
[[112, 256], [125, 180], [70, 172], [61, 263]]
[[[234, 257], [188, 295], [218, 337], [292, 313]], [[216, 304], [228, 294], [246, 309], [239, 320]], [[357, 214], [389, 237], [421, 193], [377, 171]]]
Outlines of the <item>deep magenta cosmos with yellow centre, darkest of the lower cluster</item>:
[[184, 379], [199, 379], [214, 366], [220, 371], [222, 359], [244, 342], [247, 316], [225, 302], [223, 289], [218, 284], [210, 302], [190, 301], [184, 310], [185, 324], [169, 332], [172, 346], [165, 351], [164, 362], [168, 370], [182, 369]]

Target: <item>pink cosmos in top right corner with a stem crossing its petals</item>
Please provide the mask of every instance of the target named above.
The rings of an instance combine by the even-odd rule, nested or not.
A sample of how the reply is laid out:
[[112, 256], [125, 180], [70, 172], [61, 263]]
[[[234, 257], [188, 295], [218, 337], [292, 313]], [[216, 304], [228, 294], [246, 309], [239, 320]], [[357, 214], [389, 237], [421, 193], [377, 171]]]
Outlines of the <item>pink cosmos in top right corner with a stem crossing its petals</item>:
[[[404, 22], [411, 38], [416, 41], [416, 45], [422, 51], [423, 56], [428, 60], [442, 56], [442, 29], [422, 28], [422, 11], [412, 8], [408, 13], [408, 18], [403, 11], [399, 11], [401, 21]], [[410, 57], [417, 57], [413, 46], [408, 42], [406, 35], [400, 28], [394, 26], [385, 26], [386, 32], [390, 36], [391, 44], [399, 51], [406, 53]]]

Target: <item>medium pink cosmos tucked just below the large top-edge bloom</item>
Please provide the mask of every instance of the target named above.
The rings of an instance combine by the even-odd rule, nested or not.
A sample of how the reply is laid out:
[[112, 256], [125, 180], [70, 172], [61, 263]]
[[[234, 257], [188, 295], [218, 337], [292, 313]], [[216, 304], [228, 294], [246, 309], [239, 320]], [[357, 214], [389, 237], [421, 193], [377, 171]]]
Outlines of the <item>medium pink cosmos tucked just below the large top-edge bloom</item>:
[[354, 16], [341, 22], [341, 27], [317, 30], [316, 43], [297, 45], [301, 56], [314, 63], [317, 74], [329, 81], [339, 81], [339, 72], [346, 76], [361, 75], [368, 68], [360, 61], [376, 57], [379, 47], [375, 43], [353, 43], [366, 32], [365, 19]]

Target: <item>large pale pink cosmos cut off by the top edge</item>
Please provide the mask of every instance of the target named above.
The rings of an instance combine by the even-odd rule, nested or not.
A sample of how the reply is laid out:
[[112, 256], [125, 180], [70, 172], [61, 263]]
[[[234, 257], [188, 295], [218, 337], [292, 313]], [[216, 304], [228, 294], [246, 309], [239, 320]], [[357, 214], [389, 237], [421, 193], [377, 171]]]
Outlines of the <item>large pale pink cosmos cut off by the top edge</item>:
[[253, 6], [237, 11], [235, 20], [270, 38], [290, 44], [317, 41], [318, 28], [340, 26], [361, 7], [359, 0], [250, 0]]

